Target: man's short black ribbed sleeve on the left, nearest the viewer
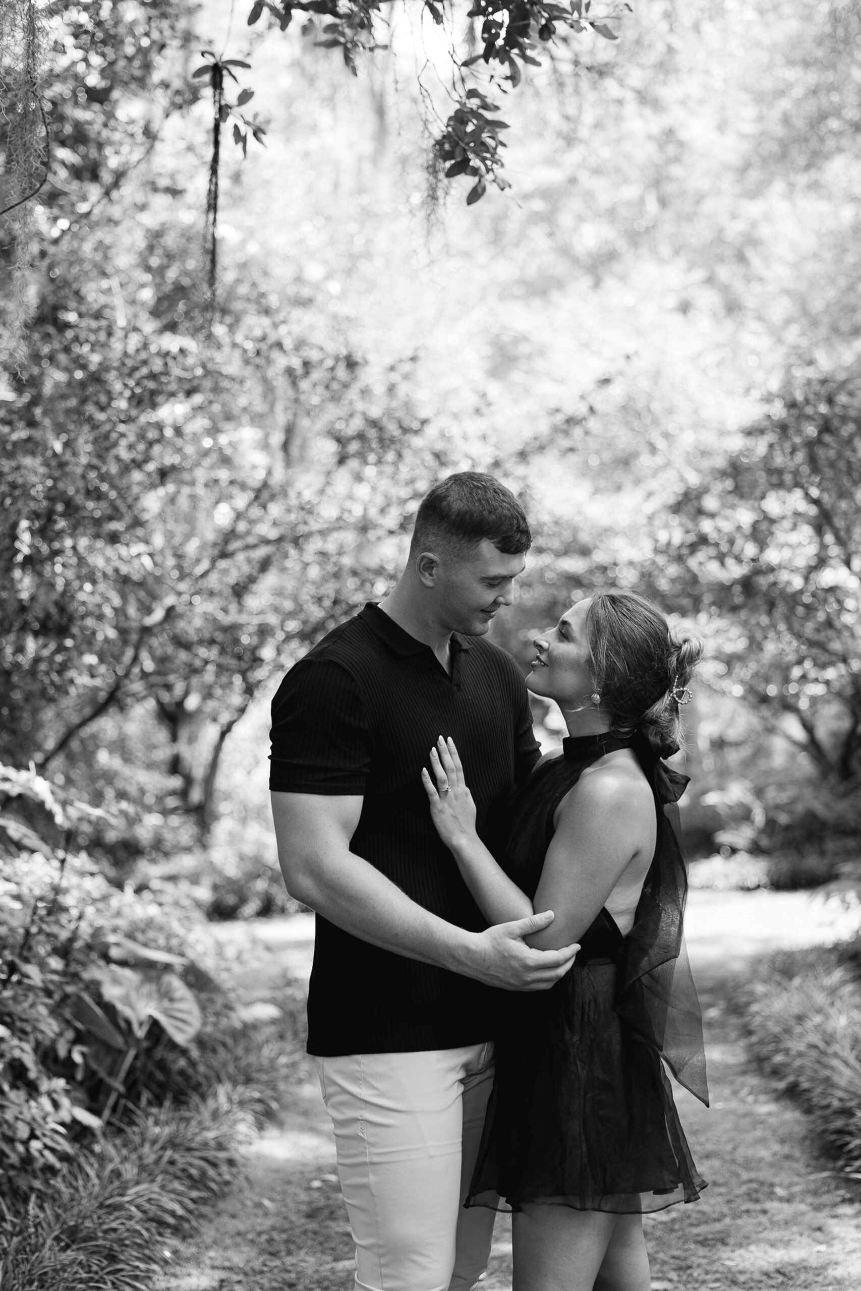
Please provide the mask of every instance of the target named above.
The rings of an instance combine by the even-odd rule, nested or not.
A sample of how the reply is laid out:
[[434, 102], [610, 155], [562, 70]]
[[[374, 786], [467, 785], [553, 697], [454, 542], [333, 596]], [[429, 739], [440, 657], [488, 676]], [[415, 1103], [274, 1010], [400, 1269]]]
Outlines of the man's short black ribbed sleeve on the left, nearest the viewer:
[[272, 700], [268, 786], [288, 794], [364, 794], [370, 736], [346, 667], [299, 660]]

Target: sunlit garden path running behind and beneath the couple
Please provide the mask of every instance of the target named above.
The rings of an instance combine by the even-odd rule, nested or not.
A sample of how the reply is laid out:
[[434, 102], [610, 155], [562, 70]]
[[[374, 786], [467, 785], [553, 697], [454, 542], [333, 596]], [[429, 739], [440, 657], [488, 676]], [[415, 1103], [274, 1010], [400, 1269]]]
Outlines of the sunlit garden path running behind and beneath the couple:
[[[827, 941], [842, 931], [838, 917], [802, 893], [692, 893], [688, 942], [706, 1021], [711, 1109], [678, 1088], [676, 1099], [710, 1186], [696, 1205], [647, 1219], [653, 1291], [861, 1287], [858, 1189], [829, 1174], [803, 1114], [751, 1065], [725, 1002], [729, 977], [762, 949]], [[252, 932], [226, 928], [226, 951]], [[307, 918], [259, 924], [256, 936], [249, 990], [270, 990], [285, 970], [307, 975]], [[485, 1291], [510, 1291], [510, 1252], [501, 1219]], [[157, 1291], [350, 1291], [350, 1233], [310, 1062], [296, 1069], [283, 1123], [253, 1145], [247, 1181], [172, 1255]]]

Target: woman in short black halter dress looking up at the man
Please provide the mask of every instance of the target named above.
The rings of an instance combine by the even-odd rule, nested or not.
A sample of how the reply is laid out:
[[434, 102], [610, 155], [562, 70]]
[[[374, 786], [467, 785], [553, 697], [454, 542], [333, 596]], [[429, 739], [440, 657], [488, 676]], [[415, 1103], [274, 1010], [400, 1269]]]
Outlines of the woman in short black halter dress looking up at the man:
[[527, 684], [559, 704], [543, 758], [500, 822], [501, 864], [475, 834], [457, 750], [423, 782], [440, 837], [489, 923], [552, 909], [531, 942], [581, 942], [541, 995], [510, 997], [467, 1205], [514, 1211], [515, 1291], [648, 1291], [644, 1212], [705, 1186], [661, 1059], [707, 1103], [696, 990], [682, 942], [676, 834], [687, 780], [679, 706], [702, 655], [649, 602], [603, 593], [536, 638]]

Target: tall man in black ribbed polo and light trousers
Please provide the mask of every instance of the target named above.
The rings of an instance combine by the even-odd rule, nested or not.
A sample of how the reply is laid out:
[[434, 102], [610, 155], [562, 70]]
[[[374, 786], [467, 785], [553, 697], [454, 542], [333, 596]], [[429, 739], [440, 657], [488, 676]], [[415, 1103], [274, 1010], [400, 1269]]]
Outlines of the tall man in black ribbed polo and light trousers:
[[485, 927], [421, 782], [452, 736], [487, 838], [538, 757], [520, 671], [481, 639], [531, 541], [509, 489], [451, 475], [422, 501], [391, 594], [315, 646], [272, 702], [279, 857], [318, 913], [309, 1052], [365, 1291], [466, 1291], [484, 1270], [494, 1214], [461, 1201], [498, 988], [549, 989], [577, 949], [525, 945], [550, 913]]

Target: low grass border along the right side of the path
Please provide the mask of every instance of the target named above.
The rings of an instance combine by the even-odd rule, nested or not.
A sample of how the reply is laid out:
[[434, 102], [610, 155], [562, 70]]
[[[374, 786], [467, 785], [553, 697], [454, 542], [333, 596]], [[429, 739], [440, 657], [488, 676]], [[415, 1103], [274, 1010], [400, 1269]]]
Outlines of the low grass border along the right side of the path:
[[741, 994], [747, 1046], [861, 1179], [861, 982], [855, 946], [769, 957]]

